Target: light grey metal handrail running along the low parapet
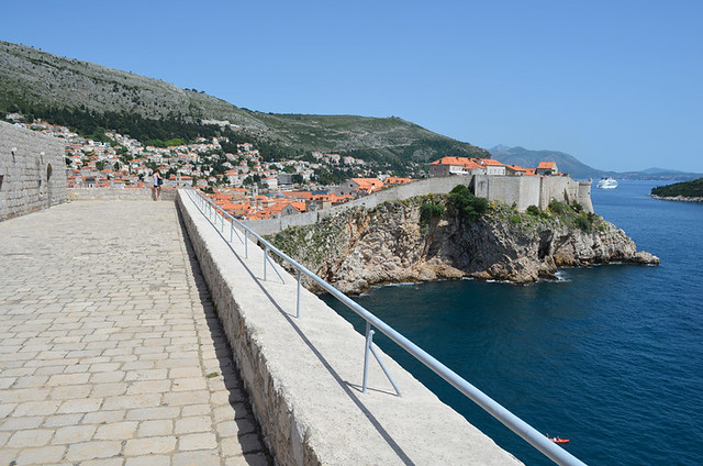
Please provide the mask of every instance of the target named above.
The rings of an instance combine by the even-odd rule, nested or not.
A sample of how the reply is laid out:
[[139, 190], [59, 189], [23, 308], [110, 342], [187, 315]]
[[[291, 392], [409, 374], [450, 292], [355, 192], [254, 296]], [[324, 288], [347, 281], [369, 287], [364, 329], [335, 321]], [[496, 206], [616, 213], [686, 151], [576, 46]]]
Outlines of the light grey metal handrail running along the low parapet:
[[[314, 273], [309, 270], [303, 265], [299, 264], [295, 259], [293, 259], [292, 257], [288, 256], [282, 251], [278, 249], [270, 242], [266, 241], [264, 237], [261, 237], [259, 234], [257, 234], [254, 230], [252, 230], [250, 228], [246, 226], [245, 224], [239, 222], [237, 219], [235, 219], [233, 215], [227, 213], [223, 208], [221, 208], [220, 206], [216, 206], [214, 202], [212, 202], [212, 200], [210, 198], [208, 198], [204, 193], [202, 193], [201, 191], [196, 191], [194, 189], [188, 189], [187, 192], [189, 192], [191, 200], [193, 200], [193, 203], [196, 203], [196, 199], [192, 198], [192, 195], [194, 193], [201, 200], [201, 202], [204, 202], [203, 206], [208, 206], [212, 210], [212, 212], [214, 212], [215, 214], [216, 214], [217, 211], [222, 212], [223, 230], [224, 230], [224, 217], [225, 215], [231, 219], [231, 222], [233, 224], [236, 222], [236, 224], [244, 230], [245, 247], [246, 247], [246, 244], [247, 244], [246, 243], [246, 237], [247, 237], [248, 234], [250, 234], [252, 236], [256, 237], [261, 244], [265, 245], [265, 251], [270, 251], [270, 252], [277, 254], [279, 257], [281, 257], [282, 259], [287, 260], [289, 264], [291, 264], [298, 270], [298, 293], [299, 293], [299, 296], [298, 296], [298, 310], [297, 310], [298, 311], [297, 312], [298, 317], [300, 317], [300, 274], [302, 273], [302, 274], [306, 275], [309, 278], [311, 278], [314, 282], [320, 285], [320, 287], [322, 287], [330, 295], [334, 296], [338, 301], [344, 303], [347, 308], [349, 308], [354, 312], [356, 312], [361, 319], [364, 319], [366, 321], [366, 323], [367, 323], [367, 325], [366, 325], [366, 328], [367, 328], [367, 343], [366, 343], [367, 358], [365, 359], [365, 375], [364, 375], [364, 388], [365, 389], [366, 389], [366, 370], [367, 370], [367, 367], [368, 367], [368, 353], [370, 351], [371, 353], [373, 353], [373, 355], [376, 356], [377, 360], [382, 366], [386, 375], [389, 377], [391, 384], [393, 385], [393, 387], [395, 388], [395, 390], [400, 395], [400, 391], [398, 390], [398, 387], [395, 386], [395, 382], [390, 377], [390, 374], [386, 370], [386, 367], [383, 366], [383, 363], [381, 363], [380, 358], [378, 357], [378, 354], [376, 353], [376, 351], [372, 350], [372, 347], [370, 347], [371, 346], [370, 337], [372, 337], [372, 334], [373, 334], [373, 331], [371, 330], [371, 326], [375, 326], [376, 329], [381, 331], [386, 336], [388, 336], [393, 342], [395, 342], [395, 344], [398, 344], [400, 347], [405, 350], [413, 357], [415, 357], [417, 360], [420, 360], [426, 367], [432, 369], [435, 374], [437, 374], [439, 377], [442, 377], [447, 382], [449, 382], [454, 388], [459, 390], [461, 393], [464, 393], [466, 397], [468, 397], [470, 400], [472, 400], [475, 403], [477, 403], [479, 407], [481, 407], [486, 412], [488, 412], [493, 418], [499, 420], [501, 423], [503, 423], [511, 431], [513, 431], [514, 433], [520, 435], [524, 441], [526, 441], [532, 446], [537, 448], [542, 454], [547, 456], [553, 462], [555, 462], [557, 464], [560, 464], [560, 465], [569, 465], [569, 466], [571, 466], [571, 465], [574, 465], [574, 466], [576, 465], [584, 465], [584, 463], [581, 462], [579, 458], [577, 458], [576, 456], [571, 455], [569, 452], [567, 452], [566, 450], [563, 450], [559, 445], [557, 445], [554, 442], [551, 442], [543, 433], [540, 433], [535, 428], [533, 428], [532, 425], [527, 424], [525, 421], [523, 421], [522, 419], [520, 419], [518, 417], [516, 417], [515, 414], [510, 412], [507, 409], [505, 409], [503, 406], [501, 406], [498, 401], [493, 400], [488, 395], [483, 393], [480, 389], [478, 389], [473, 385], [469, 384], [461, 376], [456, 374], [454, 370], [449, 369], [447, 366], [442, 364], [439, 360], [435, 359], [431, 354], [428, 354], [427, 352], [422, 350], [420, 346], [417, 346], [416, 344], [414, 344], [413, 342], [408, 340], [405, 336], [403, 336], [402, 334], [397, 332], [393, 328], [388, 325], [386, 322], [383, 322], [382, 320], [380, 320], [379, 318], [373, 315], [371, 312], [367, 311], [364, 307], [361, 307], [358, 303], [356, 303], [355, 301], [353, 301], [349, 297], [347, 297], [346, 295], [344, 295], [343, 292], [341, 292], [339, 290], [334, 288], [332, 285], [327, 284], [322, 278], [317, 277]], [[201, 210], [201, 212], [202, 212], [202, 210]], [[204, 214], [204, 212], [203, 212], [203, 214]], [[213, 221], [211, 221], [211, 222], [214, 225], [214, 222]], [[247, 256], [248, 256], [248, 252], [247, 252]], [[268, 256], [267, 256], [267, 258], [268, 258]], [[279, 277], [280, 277], [280, 275], [279, 275]], [[281, 279], [282, 279], [282, 277], [281, 277]], [[365, 389], [364, 389], [364, 391], [365, 391]]]

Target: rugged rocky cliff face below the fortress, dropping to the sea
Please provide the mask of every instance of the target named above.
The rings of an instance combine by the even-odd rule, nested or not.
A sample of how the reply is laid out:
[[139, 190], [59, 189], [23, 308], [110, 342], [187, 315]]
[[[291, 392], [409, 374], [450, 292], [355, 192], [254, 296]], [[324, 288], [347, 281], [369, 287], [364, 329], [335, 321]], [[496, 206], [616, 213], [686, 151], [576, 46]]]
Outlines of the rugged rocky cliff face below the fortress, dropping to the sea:
[[[649, 253], [598, 215], [533, 215], [491, 204], [478, 220], [447, 204], [440, 217], [421, 220], [413, 198], [372, 210], [353, 209], [272, 241], [343, 292], [372, 285], [473, 277], [527, 284], [554, 278], [557, 267], [607, 263], [658, 264]], [[570, 208], [569, 208], [570, 209]]]

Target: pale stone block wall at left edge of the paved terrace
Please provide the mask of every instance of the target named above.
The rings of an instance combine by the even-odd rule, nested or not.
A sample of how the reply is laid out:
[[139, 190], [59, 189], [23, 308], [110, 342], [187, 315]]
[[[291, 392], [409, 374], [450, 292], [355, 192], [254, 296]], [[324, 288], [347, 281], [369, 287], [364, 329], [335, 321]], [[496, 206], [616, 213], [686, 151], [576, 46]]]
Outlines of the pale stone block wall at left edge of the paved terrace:
[[0, 122], [0, 220], [66, 202], [62, 140]]

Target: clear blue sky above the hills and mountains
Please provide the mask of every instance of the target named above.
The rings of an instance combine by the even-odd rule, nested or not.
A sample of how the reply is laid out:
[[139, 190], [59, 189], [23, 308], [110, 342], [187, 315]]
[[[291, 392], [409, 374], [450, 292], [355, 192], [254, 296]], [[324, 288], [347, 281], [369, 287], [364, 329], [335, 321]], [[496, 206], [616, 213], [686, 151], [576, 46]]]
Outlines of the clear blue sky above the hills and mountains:
[[703, 2], [0, 1], [0, 40], [252, 110], [703, 173]]

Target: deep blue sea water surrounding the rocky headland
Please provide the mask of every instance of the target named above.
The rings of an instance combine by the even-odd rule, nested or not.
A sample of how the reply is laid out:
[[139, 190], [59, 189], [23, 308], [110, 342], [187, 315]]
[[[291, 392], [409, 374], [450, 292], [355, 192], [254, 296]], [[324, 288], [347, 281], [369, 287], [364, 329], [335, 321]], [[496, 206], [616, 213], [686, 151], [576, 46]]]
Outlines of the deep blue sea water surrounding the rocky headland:
[[[570, 439], [565, 448], [587, 464], [701, 465], [703, 204], [651, 199], [656, 185], [621, 181], [592, 199], [660, 266], [570, 268], [531, 286], [379, 287], [356, 300], [537, 430]], [[375, 342], [503, 448], [551, 464], [382, 335]]]

